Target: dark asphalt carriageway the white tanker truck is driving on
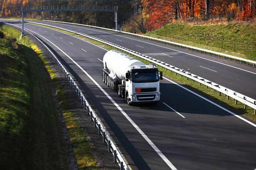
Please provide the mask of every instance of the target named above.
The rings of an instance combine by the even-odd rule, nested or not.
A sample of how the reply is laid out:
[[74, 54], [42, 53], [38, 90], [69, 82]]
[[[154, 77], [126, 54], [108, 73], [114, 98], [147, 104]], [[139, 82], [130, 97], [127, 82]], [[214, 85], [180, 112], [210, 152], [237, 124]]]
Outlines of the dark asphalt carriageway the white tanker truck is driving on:
[[[163, 103], [156, 107], [147, 105], [130, 107], [123, 99], [119, 99], [115, 92], [105, 87], [101, 80], [102, 63], [99, 59], [102, 60], [105, 51], [75, 37], [48, 28], [34, 27], [29, 29], [33, 29], [57, 44], [79, 63], [113, 97], [178, 170], [255, 168], [255, 159], [253, 159], [253, 153], [256, 151], [253, 144], [256, 137], [253, 135], [255, 127], [167, 80], [161, 82], [161, 102], [165, 102], [185, 118], [173, 112]], [[80, 48], [87, 49], [87, 52], [80, 51]], [[121, 150], [124, 150], [125, 153], [132, 150], [132, 153], [129, 153], [131, 154], [130, 158], [127, 158], [132, 162], [131, 164], [135, 164], [137, 167], [143, 166], [139, 169], [169, 169], [160, 156], [148, 146], [145, 139], [134, 130], [131, 123], [127, 122], [104, 94], [95, 87], [93, 82], [84, 76], [84, 73], [76, 68], [76, 65], [67, 56], [61, 54], [61, 57], [67, 62], [70, 69], [77, 73], [76, 79], [92, 100], [94, 108], [99, 108], [97, 113], [102, 116], [106, 126], [108, 125], [114, 131], [112, 134], [123, 134], [121, 134], [121, 139], [116, 135], [116, 139], [119, 140], [118, 144], [124, 145], [122, 143], [124, 139], [129, 139], [130, 145], [127, 144], [129, 147], [124, 145]], [[168, 91], [167, 89], [172, 90]], [[138, 164], [136, 160], [142, 162]]]

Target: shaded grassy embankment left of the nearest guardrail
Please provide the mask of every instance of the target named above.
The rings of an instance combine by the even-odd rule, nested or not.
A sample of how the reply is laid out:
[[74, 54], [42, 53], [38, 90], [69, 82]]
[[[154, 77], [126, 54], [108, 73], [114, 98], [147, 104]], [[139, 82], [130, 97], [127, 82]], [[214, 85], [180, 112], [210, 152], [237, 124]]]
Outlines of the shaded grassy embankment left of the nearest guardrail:
[[[14, 28], [5, 25], [0, 28], [5, 34], [8, 31], [20, 35]], [[0, 39], [1, 169], [67, 169], [48, 75], [58, 94], [79, 169], [96, 169], [90, 145], [43, 54], [31, 41], [31, 48], [19, 42], [15, 44]], [[28, 44], [27, 37], [25, 44]]]

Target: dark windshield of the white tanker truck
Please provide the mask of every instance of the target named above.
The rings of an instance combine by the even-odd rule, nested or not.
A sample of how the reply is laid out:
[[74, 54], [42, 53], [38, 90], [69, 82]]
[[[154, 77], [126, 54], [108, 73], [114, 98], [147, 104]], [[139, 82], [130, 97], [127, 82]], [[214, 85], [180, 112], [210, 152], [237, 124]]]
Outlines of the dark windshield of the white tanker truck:
[[158, 76], [158, 71], [155, 72], [146, 72], [146, 73], [140, 73], [140, 72], [135, 72], [131, 73], [131, 81], [132, 82], [158, 82], [159, 81], [159, 76]]

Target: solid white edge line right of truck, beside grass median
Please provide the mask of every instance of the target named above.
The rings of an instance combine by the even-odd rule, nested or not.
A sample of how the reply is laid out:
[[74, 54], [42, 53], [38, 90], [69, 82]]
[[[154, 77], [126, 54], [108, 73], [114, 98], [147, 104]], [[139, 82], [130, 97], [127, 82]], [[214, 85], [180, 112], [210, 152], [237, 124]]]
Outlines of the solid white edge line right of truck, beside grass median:
[[209, 99], [206, 99], [205, 97], [203, 97], [203, 96], [201, 96], [201, 95], [199, 95], [199, 94], [197, 94], [197, 93], [195, 93], [195, 92], [193, 92], [193, 91], [191, 91], [191, 90], [189, 90], [189, 89], [183, 87], [182, 85], [177, 84], [176, 82], [174, 82], [174, 81], [172, 81], [172, 80], [170, 80], [170, 79], [167, 79], [166, 77], [163, 77], [163, 78], [166, 79], [167, 81], [172, 82], [173, 84], [175, 84], [175, 85], [177, 85], [177, 86], [179, 86], [179, 87], [185, 89], [186, 91], [189, 91], [190, 93], [195, 94], [196, 96], [198, 96], [198, 97], [200, 97], [200, 98], [206, 100], [207, 102], [211, 103], [212, 105], [215, 105], [215, 106], [217, 106], [218, 108], [221, 108], [222, 110], [224, 110], [224, 111], [226, 111], [226, 112], [228, 112], [228, 113], [230, 113], [230, 114], [236, 116], [237, 118], [243, 120], [244, 122], [247, 122], [247, 123], [249, 123], [250, 125], [253, 125], [254, 127], [256, 127], [256, 124], [254, 124], [254, 123], [252, 123], [252, 122], [250, 122], [250, 121], [248, 121], [248, 120], [242, 118], [241, 116], [238, 116], [236, 113], [233, 113], [232, 111], [229, 111], [229, 110], [227, 110], [226, 108], [223, 108], [222, 106], [216, 104], [215, 102], [212, 102], [212, 101], [210, 101]]

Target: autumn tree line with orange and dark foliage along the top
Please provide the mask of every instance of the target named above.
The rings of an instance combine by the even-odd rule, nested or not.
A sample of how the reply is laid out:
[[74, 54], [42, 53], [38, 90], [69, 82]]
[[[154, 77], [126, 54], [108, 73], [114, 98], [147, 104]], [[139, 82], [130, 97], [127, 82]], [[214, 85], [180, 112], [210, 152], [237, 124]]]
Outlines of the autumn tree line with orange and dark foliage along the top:
[[[253, 20], [255, 0], [0, 0], [0, 17], [20, 17], [22, 6], [118, 6], [118, 23], [131, 32], [153, 31], [174, 21]], [[33, 12], [30, 18], [115, 27], [114, 12]]]

